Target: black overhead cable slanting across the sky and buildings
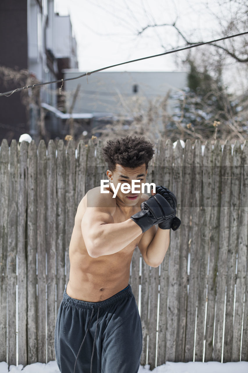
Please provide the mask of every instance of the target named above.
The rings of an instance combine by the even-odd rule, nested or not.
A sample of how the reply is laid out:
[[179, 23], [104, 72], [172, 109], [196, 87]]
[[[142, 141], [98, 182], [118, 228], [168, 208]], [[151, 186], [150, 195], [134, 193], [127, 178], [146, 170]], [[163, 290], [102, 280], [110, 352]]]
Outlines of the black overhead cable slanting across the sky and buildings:
[[[45, 85], [45, 84], [52, 84], [52, 83], [62, 83], [63, 85], [63, 82], [67, 81], [67, 80], [74, 80], [74, 79], [79, 79], [79, 78], [82, 78], [83, 76], [89, 76], [90, 74], [93, 74], [95, 72], [99, 72], [99, 71], [103, 71], [103, 70], [106, 70], [106, 69], [110, 69], [110, 68], [114, 68], [116, 66], [121, 66], [121, 65], [125, 65], [126, 63], [131, 63], [131, 62], [137, 62], [137, 61], [142, 61], [142, 60], [146, 60], [148, 58], [153, 58], [153, 57], [159, 57], [159, 56], [165, 56], [165, 54], [170, 54], [170, 53], [175, 53], [175, 52], [179, 52], [179, 51], [182, 51], [182, 50], [186, 50], [186, 49], [190, 49], [190, 48], [195, 48], [195, 47], [199, 47], [199, 46], [203, 46], [205, 44], [211, 44], [211, 43], [216, 43], [217, 41], [221, 41], [221, 40], [225, 40], [225, 39], [230, 39], [230, 38], [235, 38], [237, 36], [241, 36], [241, 35], [245, 35], [245, 34], [248, 34], [248, 31], [246, 32], [241, 32], [241, 34], [235, 34], [235, 35], [230, 35], [230, 36], [225, 36], [223, 38], [220, 38], [220, 39], [216, 39], [216, 40], [211, 40], [211, 41], [206, 41], [204, 43], [197, 43], [197, 44], [193, 44], [191, 46], [188, 46], [188, 47], [184, 47], [184, 48], [179, 48], [179, 49], [173, 49], [171, 51], [168, 51], [168, 52], [164, 52], [164, 53], [159, 53], [159, 54], [155, 54], [153, 56], [148, 56], [148, 57], [142, 57], [142, 58], [138, 58], [136, 60], [131, 60], [131, 61], [127, 61], [127, 62], [121, 62], [121, 63], [117, 63], [116, 65], [112, 65], [112, 66], [107, 66], [106, 68], [102, 68], [102, 69], [98, 69], [98, 70], [94, 70], [94, 71], [90, 71], [90, 72], [86, 72], [85, 74], [82, 74], [82, 75], [79, 75], [79, 76], [75, 76], [74, 78], [67, 78], [67, 79], [60, 79], [60, 80], [53, 80], [53, 81], [50, 81], [50, 82], [44, 82], [44, 83], [37, 83], [37, 84], [33, 84], [33, 85], [28, 85], [26, 87], [22, 87], [22, 88], [16, 88], [15, 90], [12, 90], [12, 91], [8, 91], [8, 92], [4, 92], [4, 93], [0, 93], [0, 97], [1, 96], [11, 96], [13, 93], [15, 92], [19, 92], [19, 91], [23, 91], [27, 88], [34, 88], [34, 87], [39, 87], [41, 85]], [[61, 85], [61, 88], [62, 88], [62, 85]]]

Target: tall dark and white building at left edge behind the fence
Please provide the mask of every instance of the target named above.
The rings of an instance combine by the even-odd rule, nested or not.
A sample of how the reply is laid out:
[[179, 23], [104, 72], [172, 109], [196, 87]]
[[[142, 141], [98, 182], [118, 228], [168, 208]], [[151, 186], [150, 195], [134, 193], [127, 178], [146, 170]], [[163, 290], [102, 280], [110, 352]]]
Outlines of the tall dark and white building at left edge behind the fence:
[[[60, 80], [63, 78], [62, 69], [78, 67], [70, 17], [54, 13], [54, 0], [0, 0], [0, 24], [1, 29], [6, 30], [0, 35], [0, 65], [7, 71], [10, 68], [29, 72], [24, 73], [28, 81], [24, 78], [16, 81], [15, 74], [8, 80], [1, 76], [0, 92], [31, 85], [36, 79], [39, 82]], [[18, 141], [21, 134], [29, 133], [38, 142], [41, 131], [37, 123], [43, 117], [41, 103], [49, 104], [53, 109], [64, 107], [62, 95], [58, 94], [59, 87], [49, 84], [39, 90], [30, 88], [25, 101], [20, 94], [3, 97], [0, 112], [4, 126], [0, 123], [0, 139], [6, 138], [10, 144], [13, 138]], [[60, 123], [47, 110], [44, 114], [48, 137], [54, 138]]]

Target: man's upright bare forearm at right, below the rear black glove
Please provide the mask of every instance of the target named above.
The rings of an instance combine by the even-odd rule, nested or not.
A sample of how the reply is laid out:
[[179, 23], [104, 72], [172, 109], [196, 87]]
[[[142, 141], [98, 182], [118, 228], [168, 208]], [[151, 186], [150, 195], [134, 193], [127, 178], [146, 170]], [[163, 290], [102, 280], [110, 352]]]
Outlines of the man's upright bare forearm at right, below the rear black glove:
[[153, 237], [152, 242], [147, 247], [146, 258], [147, 264], [152, 267], [158, 267], [162, 263], [163, 258], [165, 257], [166, 251], [168, 250], [170, 243], [170, 229], [161, 229], [158, 227], [158, 230]]

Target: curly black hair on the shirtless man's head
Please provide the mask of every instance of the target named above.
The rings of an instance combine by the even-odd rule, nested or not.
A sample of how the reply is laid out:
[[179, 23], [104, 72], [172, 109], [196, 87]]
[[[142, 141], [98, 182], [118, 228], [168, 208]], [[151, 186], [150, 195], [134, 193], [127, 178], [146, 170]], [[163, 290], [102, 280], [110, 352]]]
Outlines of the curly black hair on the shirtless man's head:
[[115, 141], [108, 140], [107, 145], [102, 148], [102, 157], [111, 172], [115, 171], [116, 164], [135, 168], [145, 163], [147, 169], [154, 153], [153, 144], [145, 140], [144, 136], [127, 135]]

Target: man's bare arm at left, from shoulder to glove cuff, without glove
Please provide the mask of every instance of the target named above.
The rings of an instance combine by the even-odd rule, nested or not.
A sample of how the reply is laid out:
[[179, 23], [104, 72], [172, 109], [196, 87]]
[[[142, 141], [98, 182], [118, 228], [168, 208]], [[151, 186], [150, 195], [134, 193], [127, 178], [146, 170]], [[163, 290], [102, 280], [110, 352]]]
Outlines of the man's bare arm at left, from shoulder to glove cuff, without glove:
[[86, 208], [81, 222], [86, 249], [92, 258], [117, 253], [142, 233], [140, 226], [131, 219], [114, 223], [112, 214], [116, 202], [112, 195], [105, 195], [103, 200], [96, 194], [94, 206]]

